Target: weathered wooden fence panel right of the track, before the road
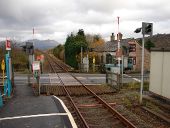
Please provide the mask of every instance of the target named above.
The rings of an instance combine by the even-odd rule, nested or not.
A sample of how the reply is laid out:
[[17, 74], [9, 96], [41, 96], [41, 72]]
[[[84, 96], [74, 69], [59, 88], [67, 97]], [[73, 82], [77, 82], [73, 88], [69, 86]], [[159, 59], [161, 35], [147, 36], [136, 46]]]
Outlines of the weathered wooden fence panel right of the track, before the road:
[[106, 83], [116, 90], [120, 90], [121, 76], [118, 73], [106, 71]]

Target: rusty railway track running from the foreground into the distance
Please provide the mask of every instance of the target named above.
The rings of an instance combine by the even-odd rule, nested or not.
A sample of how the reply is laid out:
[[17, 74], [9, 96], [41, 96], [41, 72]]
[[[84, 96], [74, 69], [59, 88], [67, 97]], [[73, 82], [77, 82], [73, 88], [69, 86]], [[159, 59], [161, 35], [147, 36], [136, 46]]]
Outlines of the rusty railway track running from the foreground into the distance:
[[73, 116], [76, 114], [74, 117], [75, 120], [77, 120], [78, 126], [80, 128], [136, 128], [134, 124], [128, 121], [111, 106], [115, 103], [105, 102], [95, 93], [94, 90], [83, 84], [74, 75], [69, 73], [77, 82], [80, 83], [81, 88], [83, 88], [83, 92], [87, 93], [89, 96], [88, 98], [73, 97], [68, 87], [65, 86], [65, 83], [58, 74], [59, 72], [68, 72], [68, 70], [62, 65], [58, 64], [54, 58], [48, 57], [48, 61], [52, 71], [57, 74], [60, 80], [60, 88], [62, 88], [62, 92], [67, 97], [65, 100], [67, 100], [66, 103], [69, 107], [71, 103], [71, 112]]

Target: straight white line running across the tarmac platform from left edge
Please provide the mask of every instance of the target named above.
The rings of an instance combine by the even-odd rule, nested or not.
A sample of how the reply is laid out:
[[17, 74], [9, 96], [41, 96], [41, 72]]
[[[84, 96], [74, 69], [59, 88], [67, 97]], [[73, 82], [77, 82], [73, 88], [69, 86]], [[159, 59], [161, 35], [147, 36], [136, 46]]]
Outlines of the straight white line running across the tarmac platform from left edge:
[[67, 115], [67, 113], [50, 113], [50, 114], [37, 114], [37, 115], [27, 115], [27, 116], [15, 116], [15, 117], [0, 118], [0, 121], [23, 119], [23, 118], [34, 118], [34, 117], [46, 117], [46, 116], [65, 116], [65, 115]]

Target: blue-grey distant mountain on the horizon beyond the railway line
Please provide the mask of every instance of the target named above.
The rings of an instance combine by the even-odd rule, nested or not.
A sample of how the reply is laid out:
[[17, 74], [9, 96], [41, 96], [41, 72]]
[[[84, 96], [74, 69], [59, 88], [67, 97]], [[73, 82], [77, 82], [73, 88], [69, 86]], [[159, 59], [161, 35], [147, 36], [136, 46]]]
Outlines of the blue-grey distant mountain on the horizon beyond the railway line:
[[36, 49], [41, 49], [41, 50], [46, 50], [46, 49], [51, 49], [53, 47], [56, 47], [59, 45], [59, 43], [55, 40], [28, 40], [25, 42], [34, 42], [34, 48]]

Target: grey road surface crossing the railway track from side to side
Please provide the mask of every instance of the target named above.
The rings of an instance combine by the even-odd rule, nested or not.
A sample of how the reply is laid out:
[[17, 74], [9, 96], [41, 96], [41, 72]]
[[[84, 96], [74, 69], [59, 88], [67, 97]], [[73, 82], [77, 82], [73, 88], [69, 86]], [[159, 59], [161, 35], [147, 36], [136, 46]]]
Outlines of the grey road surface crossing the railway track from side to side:
[[[62, 76], [63, 80], [65, 79], [67, 84], [77, 84], [74, 79], [71, 79], [70, 76], [67, 75], [67, 73], [58, 73], [60, 76]], [[77, 79], [79, 79], [82, 83], [85, 83], [86, 85], [98, 85], [98, 84], [105, 84], [106, 83], [106, 74], [85, 74], [85, 73], [73, 73], [74, 76], [76, 76]], [[68, 81], [68, 78], [69, 81]], [[19, 75], [16, 76], [16, 79], [18, 80], [25, 80], [27, 82], [27, 75]], [[149, 80], [149, 74], [144, 74], [144, 80]], [[123, 83], [129, 83], [129, 82], [140, 82], [141, 81], [141, 75], [138, 74], [124, 74], [123, 75]], [[40, 77], [40, 83], [43, 84], [51, 84], [51, 85], [59, 85], [60, 80], [56, 74], [42, 74]]]

